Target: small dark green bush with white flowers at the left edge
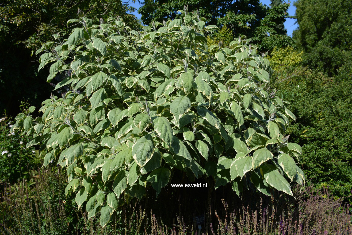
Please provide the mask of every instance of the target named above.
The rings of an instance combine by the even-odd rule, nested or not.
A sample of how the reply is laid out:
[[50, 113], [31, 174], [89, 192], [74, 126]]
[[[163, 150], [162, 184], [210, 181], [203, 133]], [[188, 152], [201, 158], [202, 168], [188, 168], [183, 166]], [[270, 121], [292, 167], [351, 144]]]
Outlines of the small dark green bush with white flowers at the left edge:
[[19, 130], [10, 132], [12, 124], [6, 116], [0, 119], [0, 184], [27, 178], [25, 172], [40, 163], [35, 149], [25, 148], [29, 138], [20, 135]]

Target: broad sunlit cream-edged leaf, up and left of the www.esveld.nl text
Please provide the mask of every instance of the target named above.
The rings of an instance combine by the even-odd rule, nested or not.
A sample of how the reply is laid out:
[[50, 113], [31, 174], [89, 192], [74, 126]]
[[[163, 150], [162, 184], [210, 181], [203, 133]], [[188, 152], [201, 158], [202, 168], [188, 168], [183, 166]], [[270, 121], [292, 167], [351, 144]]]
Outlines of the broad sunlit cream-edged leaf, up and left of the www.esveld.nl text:
[[132, 146], [133, 159], [139, 167], [143, 167], [151, 158], [154, 152], [154, 142], [151, 135], [139, 138]]

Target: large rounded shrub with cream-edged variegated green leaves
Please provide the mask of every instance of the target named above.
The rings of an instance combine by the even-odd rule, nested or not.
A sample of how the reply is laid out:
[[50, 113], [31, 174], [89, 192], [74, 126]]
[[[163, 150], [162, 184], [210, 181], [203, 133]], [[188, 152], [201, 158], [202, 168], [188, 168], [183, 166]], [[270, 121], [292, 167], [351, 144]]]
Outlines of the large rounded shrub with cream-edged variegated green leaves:
[[69, 71], [55, 89], [70, 88], [45, 100], [40, 117], [31, 117], [34, 107], [20, 113], [12, 129], [40, 146], [44, 166], [65, 169], [66, 193], [88, 217], [101, 212], [102, 226], [123, 193], [142, 199], [152, 187], [157, 196], [176, 172], [237, 194], [292, 195], [291, 182], [304, 184], [301, 148], [284, 137], [295, 117], [265, 91], [268, 60], [245, 38], [208, 53], [206, 36], [218, 28], [181, 13], [140, 31], [119, 19], [70, 20], [81, 27], [37, 51], [39, 69], [51, 63], [48, 82]]

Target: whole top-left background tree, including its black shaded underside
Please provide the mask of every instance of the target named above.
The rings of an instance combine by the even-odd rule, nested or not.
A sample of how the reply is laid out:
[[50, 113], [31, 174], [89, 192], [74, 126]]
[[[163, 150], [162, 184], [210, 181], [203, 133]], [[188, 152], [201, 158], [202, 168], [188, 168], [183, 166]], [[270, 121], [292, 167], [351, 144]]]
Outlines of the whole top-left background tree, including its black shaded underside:
[[[46, 83], [48, 70], [38, 73], [37, 58], [32, 56], [44, 42], [53, 41], [71, 31], [66, 22], [76, 18], [80, 9], [94, 20], [121, 16], [126, 24], [138, 28], [136, 17], [127, 12], [135, 8], [120, 0], [18, 0], [0, 5], [0, 112], [11, 116], [19, 112], [20, 101], [29, 99], [39, 106], [52, 87]], [[62, 38], [61, 38], [62, 40]], [[59, 79], [59, 78], [57, 78]]]

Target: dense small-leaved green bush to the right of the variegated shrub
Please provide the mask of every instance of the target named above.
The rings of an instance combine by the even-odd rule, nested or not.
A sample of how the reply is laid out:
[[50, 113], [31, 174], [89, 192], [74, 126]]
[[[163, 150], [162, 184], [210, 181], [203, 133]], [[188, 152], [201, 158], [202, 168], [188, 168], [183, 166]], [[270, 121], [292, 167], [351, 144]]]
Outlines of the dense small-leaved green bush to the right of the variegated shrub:
[[290, 109], [297, 117], [287, 131], [290, 141], [302, 146], [299, 165], [307, 179], [319, 186], [328, 185], [335, 196], [350, 196], [352, 82], [339, 82], [307, 70], [271, 85], [277, 88], [278, 96], [291, 103]]

